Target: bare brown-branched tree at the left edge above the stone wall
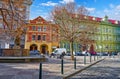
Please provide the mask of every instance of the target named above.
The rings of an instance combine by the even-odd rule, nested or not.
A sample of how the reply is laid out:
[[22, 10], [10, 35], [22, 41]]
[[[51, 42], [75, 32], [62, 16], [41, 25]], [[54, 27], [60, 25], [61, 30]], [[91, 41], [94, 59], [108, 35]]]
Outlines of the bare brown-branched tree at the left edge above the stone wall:
[[1, 0], [0, 22], [3, 24], [3, 34], [15, 39], [15, 44], [20, 45], [21, 35], [25, 33], [27, 4], [32, 0]]

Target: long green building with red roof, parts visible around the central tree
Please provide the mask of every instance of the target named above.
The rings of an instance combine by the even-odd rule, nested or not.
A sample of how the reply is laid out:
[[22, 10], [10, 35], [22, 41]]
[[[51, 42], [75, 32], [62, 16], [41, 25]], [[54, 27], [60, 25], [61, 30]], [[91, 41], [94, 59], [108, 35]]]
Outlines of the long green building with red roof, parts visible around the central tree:
[[[91, 20], [100, 22], [97, 32], [93, 36], [94, 50], [96, 52], [120, 52], [120, 22], [109, 20], [107, 16], [104, 18], [92, 17]], [[60, 47], [70, 51], [68, 42], [61, 42]], [[73, 48], [75, 52], [81, 51], [81, 44], [74, 43]]]

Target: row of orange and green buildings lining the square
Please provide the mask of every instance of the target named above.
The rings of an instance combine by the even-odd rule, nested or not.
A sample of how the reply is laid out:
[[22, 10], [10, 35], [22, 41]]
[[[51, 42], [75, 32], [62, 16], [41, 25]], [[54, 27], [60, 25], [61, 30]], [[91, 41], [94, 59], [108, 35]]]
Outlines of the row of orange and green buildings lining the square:
[[[120, 51], [120, 22], [104, 18], [89, 17], [91, 20], [100, 22], [98, 31], [94, 34], [94, 49], [96, 52]], [[56, 24], [37, 17], [29, 21], [25, 36], [25, 49], [39, 50], [41, 53], [52, 52], [55, 48], [66, 48], [70, 51], [68, 42], [60, 42], [58, 38], [59, 27]], [[81, 44], [74, 42], [75, 52], [81, 51]]]

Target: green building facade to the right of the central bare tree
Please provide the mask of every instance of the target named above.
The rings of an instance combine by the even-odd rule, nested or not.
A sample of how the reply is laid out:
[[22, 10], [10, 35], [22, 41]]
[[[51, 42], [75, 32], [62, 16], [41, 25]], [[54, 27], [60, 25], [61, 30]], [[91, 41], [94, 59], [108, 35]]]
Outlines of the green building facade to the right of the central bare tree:
[[[101, 19], [102, 20], [102, 19]], [[120, 24], [119, 21], [109, 20], [105, 17], [100, 22], [99, 31], [96, 33], [96, 51], [120, 52]]]

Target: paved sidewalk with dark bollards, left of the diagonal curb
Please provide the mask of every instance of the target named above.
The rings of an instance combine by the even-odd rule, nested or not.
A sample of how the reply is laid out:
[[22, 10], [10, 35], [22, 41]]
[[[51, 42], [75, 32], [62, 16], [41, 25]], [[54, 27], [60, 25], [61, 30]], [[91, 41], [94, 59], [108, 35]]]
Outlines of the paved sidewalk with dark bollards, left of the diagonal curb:
[[[77, 69], [85, 67], [83, 57], [77, 57]], [[42, 64], [42, 79], [62, 79], [61, 59], [49, 58]], [[94, 59], [92, 58], [92, 61]], [[74, 62], [65, 57], [64, 73], [74, 69]], [[0, 79], [39, 79], [39, 63], [0, 63]]]

